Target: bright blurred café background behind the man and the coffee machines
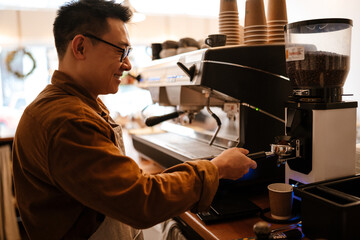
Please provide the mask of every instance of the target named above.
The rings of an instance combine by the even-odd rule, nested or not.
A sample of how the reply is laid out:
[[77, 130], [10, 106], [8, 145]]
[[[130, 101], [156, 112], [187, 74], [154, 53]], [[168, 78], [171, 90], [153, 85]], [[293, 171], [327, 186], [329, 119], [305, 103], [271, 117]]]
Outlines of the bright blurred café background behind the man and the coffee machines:
[[[56, 9], [64, 0], [0, 0], [0, 137], [12, 137], [24, 108], [50, 82], [57, 69], [52, 36]], [[117, 1], [122, 2], [122, 1]], [[265, 8], [267, 0], [264, 0]], [[178, 41], [190, 37], [202, 40], [218, 33], [219, 0], [126, 0], [135, 11], [128, 24], [134, 51], [131, 75], [151, 62], [151, 43]], [[244, 24], [245, 0], [238, 0], [240, 25]], [[345, 100], [360, 101], [360, 1], [288, 0], [288, 22], [315, 18], [353, 20], [351, 66]], [[23, 49], [18, 51], [19, 49]], [[141, 110], [151, 104], [146, 90], [124, 78], [119, 92], [102, 96], [113, 116], [140, 119]], [[360, 122], [358, 110], [358, 122]], [[137, 127], [134, 122], [128, 127]], [[359, 126], [359, 124], [358, 124]], [[359, 139], [359, 138], [358, 138]], [[360, 139], [357, 141], [360, 142]]]

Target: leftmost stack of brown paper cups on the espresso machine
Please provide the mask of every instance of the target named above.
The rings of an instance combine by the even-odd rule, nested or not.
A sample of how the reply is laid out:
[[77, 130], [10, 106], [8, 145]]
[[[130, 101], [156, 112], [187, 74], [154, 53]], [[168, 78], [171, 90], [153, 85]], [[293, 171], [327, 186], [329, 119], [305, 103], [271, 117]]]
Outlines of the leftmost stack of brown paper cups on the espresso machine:
[[237, 0], [220, 0], [219, 33], [226, 35], [226, 45], [240, 44]]

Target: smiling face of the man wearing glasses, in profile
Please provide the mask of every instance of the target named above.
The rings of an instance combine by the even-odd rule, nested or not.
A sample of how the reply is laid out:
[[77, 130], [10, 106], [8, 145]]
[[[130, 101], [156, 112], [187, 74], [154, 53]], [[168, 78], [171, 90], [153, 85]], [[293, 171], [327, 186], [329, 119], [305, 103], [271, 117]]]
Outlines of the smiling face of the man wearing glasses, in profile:
[[[108, 18], [110, 31], [99, 37], [113, 45], [125, 49], [130, 45], [126, 25], [118, 19]], [[88, 38], [90, 41], [90, 38]], [[93, 40], [93, 39], [91, 39]], [[97, 40], [95, 40], [97, 41]], [[116, 93], [121, 82], [123, 71], [129, 71], [131, 64], [126, 57], [122, 62], [123, 52], [114, 46], [97, 41], [88, 52], [85, 71], [88, 71], [88, 90], [94, 96], [99, 94]]]

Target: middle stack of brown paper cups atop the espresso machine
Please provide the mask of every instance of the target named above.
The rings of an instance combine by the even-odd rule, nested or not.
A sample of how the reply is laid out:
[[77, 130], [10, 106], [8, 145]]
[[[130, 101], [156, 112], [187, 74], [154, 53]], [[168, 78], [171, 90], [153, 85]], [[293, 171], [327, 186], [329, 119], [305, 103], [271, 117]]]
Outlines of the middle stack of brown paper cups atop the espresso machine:
[[245, 44], [267, 42], [267, 25], [263, 0], [246, 0], [245, 3]]

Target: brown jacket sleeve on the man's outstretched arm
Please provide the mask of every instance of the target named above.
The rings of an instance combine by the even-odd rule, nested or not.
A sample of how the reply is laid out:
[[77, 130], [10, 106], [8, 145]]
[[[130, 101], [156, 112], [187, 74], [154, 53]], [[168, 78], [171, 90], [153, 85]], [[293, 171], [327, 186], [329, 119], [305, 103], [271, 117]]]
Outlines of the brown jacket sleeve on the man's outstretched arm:
[[207, 160], [148, 175], [121, 155], [111, 131], [84, 119], [69, 120], [52, 136], [49, 175], [65, 194], [119, 221], [147, 228], [194, 209], [206, 210], [216, 193], [216, 167]]

